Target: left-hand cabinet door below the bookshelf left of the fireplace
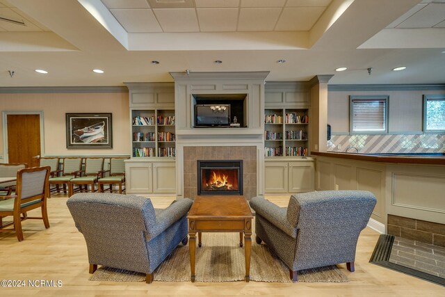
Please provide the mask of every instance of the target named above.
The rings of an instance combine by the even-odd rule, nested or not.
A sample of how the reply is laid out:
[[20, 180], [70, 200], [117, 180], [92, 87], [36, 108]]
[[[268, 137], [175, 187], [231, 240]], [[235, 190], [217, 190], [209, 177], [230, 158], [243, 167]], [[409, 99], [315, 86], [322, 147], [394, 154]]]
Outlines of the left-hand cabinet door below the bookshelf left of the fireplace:
[[125, 163], [125, 192], [152, 193], [153, 171], [150, 162]]

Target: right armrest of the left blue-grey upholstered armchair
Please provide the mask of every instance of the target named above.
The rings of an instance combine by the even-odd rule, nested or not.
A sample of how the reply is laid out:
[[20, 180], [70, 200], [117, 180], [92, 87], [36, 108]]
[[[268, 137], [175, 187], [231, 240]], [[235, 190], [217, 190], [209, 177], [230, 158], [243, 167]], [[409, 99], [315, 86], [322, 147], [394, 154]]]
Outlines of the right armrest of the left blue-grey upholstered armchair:
[[156, 216], [156, 223], [151, 227], [147, 226], [147, 230], [149, 232], [148, 240], [158, 236], [168, 227], [173, 225], [177, 220], [186, 216], [188, 210], [192, 206], [192, 200], [188, 198], [184, 198], [175, 203], [170, 204], [169, 207], [163, 209], [161, 213]]

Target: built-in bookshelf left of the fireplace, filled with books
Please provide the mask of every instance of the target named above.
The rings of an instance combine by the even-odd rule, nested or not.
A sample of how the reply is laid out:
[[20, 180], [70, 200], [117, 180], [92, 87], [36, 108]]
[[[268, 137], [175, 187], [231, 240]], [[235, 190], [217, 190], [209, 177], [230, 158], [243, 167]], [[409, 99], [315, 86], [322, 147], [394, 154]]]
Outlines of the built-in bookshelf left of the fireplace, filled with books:
[[133, 157], [176, 156], [173, 109], [133, 109], [131, 118]]

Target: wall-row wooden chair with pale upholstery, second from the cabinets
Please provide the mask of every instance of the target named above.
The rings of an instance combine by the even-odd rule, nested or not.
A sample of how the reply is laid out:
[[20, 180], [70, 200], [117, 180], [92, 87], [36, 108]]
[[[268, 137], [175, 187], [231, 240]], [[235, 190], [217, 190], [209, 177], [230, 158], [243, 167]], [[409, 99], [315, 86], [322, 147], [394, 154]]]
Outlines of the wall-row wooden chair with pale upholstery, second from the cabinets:
[[102, 157], [90, 157], [85, 159], [85, 168], [81, 172], [76, 172], [75, 176], [70, 179], [70, 187], [68, 195], [74, 193], [74, 185], [79, 186], [76, 191], [88, 192], [88, 187], [91, 188], [91, 192], [95, 192], [95, 184], [97, 179], [104, 175], [104, 158]]

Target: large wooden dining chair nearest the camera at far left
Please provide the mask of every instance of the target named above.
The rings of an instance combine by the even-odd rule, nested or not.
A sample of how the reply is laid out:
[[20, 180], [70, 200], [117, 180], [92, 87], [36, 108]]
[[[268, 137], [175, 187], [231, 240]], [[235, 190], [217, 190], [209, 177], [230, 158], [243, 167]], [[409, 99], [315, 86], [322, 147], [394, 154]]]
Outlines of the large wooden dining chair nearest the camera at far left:
[[[22, 241], [22, 220], [41, 219], [44, 227], [49, 228], [47, 214], [47, 192], [49, 191], [49, 166], [23, 168], [17, 171], [17, 188], [15, 195], [0, 198], [0, 232], [15, 231], [17, 239]], [[32, 209], [42, 209], [42, 217], [31, 217], [26, 214]], [[3, 217], [13, 216], [13, 221], [3, 225]], [[7, 228], [9, 226], [13, 228]]]

